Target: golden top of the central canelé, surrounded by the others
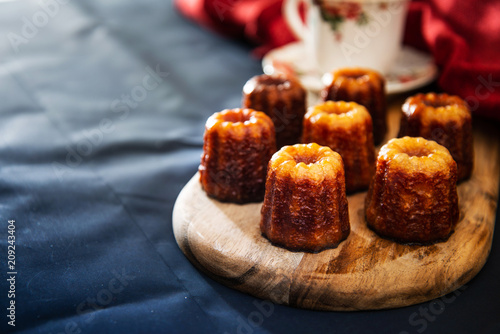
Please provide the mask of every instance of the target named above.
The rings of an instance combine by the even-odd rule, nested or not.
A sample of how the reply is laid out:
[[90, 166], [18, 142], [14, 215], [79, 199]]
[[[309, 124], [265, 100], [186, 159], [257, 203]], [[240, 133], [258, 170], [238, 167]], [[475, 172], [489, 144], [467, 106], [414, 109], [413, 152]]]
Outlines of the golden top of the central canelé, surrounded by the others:
[[370, 113], [360, 104], [345, 101], [326, 101], [310, 107], [305, 116], [315, 124], [329, 124], [343, 128], [351, 123], [370, 120]]

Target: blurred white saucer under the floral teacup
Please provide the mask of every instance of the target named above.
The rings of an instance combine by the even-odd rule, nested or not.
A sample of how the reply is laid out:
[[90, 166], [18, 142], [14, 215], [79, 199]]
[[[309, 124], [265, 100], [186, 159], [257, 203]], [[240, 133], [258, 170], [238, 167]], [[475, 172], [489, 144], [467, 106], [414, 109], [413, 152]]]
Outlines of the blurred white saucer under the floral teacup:
[[[268, 52], [262, 60], [264, 73], [295, 74], [312, 92], [323, 88], [321, 75], [306, 60], [302, 42], [290, 43]], [[386, 75], [387, 94], [396, 94], [425, 86], [437, 76], [437, 67], [430, 55], [403, 47], [394, 66]]]

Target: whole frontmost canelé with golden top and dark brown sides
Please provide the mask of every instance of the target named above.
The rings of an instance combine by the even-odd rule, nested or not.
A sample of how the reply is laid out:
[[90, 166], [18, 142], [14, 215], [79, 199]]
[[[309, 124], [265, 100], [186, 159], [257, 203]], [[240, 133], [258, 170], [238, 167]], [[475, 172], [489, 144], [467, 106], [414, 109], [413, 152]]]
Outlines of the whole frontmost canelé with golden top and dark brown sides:
[[276, 152], [261, 213], [261, 232], [275, 245], [306, 252], [336, 247], [350, 232], [340, 155], [315, 143]]

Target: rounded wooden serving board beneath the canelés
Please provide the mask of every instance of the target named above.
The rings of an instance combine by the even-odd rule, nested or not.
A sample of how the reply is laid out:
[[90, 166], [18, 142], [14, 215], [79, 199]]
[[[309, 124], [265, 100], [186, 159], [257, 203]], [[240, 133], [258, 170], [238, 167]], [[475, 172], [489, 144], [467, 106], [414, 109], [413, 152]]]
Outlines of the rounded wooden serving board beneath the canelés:
[[[399, 104], [400, 105], [400, 104]], [[390, 135], [399, 112], [389, 115]], [[366, 192], [348, 196], [351, 234], [318, 254], [273, 246], [259, 229], [261, 203], [206, 196], [196, 174], [177, 198], [176, 241], [186, 257], [231, 288], [275, 303], [318, 310], [402, 307], [445, 295], [472, 279], [490, 252], [500, 178], [495, 129], [474, 125], [475, 167], [458, 186], [460, 221], [446, 242], [401, 245], [378, 237], [364, 218]]]

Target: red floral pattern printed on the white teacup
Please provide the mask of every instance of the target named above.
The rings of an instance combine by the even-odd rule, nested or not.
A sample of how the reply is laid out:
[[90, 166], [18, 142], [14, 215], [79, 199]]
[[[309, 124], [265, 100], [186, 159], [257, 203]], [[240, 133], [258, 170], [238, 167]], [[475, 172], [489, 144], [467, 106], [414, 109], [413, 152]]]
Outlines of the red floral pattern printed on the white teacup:
[[[340, 41], [342, 34], [340, 26], [347, 20], [355, 21], [357, 25], [365, 25], [369, 22], [369, 17], [363, 10], [363, 6], [357, 2], [332, 2], [328, 0], [313, 0], [315, 5], [320, 7], [321, 17], [325, 22], [330, 24], [335, 32], [335, 38]], [[387, 4], [380, 5], [381, 9], [385, 9]]]

